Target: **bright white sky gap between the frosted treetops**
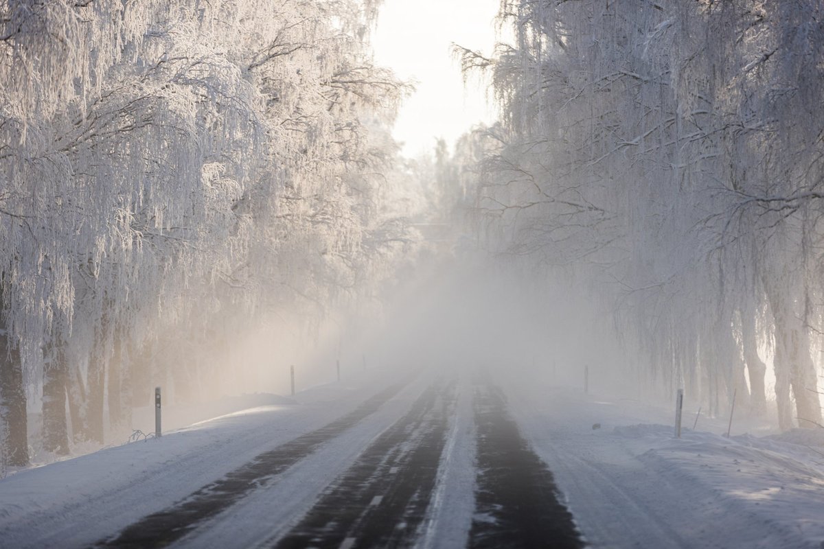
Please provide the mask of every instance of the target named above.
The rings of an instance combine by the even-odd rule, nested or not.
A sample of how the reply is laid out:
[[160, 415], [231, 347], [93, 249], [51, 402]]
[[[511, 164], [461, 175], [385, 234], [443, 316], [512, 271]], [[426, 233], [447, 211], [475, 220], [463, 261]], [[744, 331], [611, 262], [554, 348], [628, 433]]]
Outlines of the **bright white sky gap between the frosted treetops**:
[[492, 52], [499, 0], [386, 0], [372, 35], [376, 63], [416, 81], [417, 91], [400, 109], [393, 135], [405, 156], [432, 151], [443, 137], [452, 145], [479, 122], [491, 123], [485, 86], [464, 87], [452, 42]]

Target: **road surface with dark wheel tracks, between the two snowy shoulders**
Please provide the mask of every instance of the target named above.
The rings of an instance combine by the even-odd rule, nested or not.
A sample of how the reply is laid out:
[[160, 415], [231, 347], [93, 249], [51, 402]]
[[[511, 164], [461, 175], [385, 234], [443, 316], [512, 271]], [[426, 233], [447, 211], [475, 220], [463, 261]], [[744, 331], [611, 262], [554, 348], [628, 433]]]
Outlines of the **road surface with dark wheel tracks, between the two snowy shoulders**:
[[[337, 458], [341, 452], [333, 441], [349, 439], [347, 431], [375, 414], [404, 385], [391, 385], [353, 412], [256, 456], [176, 505], [148, 515], [95, 546], [167, 547], [180, 542], [190, 547], [279, 549], [414, 547], [427, 539], [439, 545], [427, 533], [447, 519], [444, 514], [452, 514], [452, 509], [433, 505], [433, 494], [439, 472], [442, 477], [447, 474], [440, 464], [456, 419], [459, 389], [455, 379], [415, 384], [413, 392], [419, 396], [403, 415], [382, 432], [368, 430], [373, 438], [353, 463], [337, 477], [325, 478], [311, 488], [311, 507], [280, 516], [276, 510], [281, 501], [293, 497], [279, 489], [280, 481], [288, 483], [293, 477], [293, 482], [309, 484], [307, 479], [322, 467], [308, 458], [325, 456], [326, 462]], [[474, 480], [478, 486], [475, 512], [466, 513], [471, 527], [468, 546], [545, 547], [551, 540], [553, 547], [582, 547], [571, 515], [556, 500], [551, 473], [508, 419], [499, 389], [486, 378], [476, 378], [471, 389], [480, 467], [475, 478], [467, 479], [467, 485]], [[461, 467], [471, 469], [472, 463]], [[303, 499], [308, 502], [310, 498]], [[471, 499], [471, 493], [466, 499]], [[459, 543], [466, 544], [466, 539]]]

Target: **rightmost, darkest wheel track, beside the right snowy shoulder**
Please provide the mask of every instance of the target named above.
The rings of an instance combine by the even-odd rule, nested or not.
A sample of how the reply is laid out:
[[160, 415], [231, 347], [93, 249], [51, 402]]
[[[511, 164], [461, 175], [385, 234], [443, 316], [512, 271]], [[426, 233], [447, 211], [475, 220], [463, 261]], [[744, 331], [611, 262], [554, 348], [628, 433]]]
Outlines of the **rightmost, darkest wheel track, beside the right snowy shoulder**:
[[499, 388], [476, 384], [477, 488], [468, 547], [584, 547], [555, 479], [522, 438]]

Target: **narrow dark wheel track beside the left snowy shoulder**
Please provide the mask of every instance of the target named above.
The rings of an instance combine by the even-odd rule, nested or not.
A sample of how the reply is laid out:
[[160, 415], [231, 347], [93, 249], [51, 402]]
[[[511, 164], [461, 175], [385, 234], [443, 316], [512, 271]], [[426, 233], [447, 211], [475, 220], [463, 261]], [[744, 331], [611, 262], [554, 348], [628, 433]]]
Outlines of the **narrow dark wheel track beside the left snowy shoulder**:
[[394, 397], [410, 379], [372, 396], [345, 416], [306, 435], [256, 456], [246, 465], [211, 482], [167, 509], [149, 514], [116, 537], [93, 547], [166, 547], [190, 533], [205, 520], [227, 509], [248, 492], [265, 486], [279, 473], [314, 452], [321, 444], [362, 421]]

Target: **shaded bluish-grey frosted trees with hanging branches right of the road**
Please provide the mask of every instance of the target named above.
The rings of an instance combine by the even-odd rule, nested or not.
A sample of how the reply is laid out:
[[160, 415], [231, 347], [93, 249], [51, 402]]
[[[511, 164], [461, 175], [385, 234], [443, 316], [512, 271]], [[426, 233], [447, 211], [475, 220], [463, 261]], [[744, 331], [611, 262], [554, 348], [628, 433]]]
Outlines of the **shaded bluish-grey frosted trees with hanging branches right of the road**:
[[573, 269], [649, 374], [714, 411], [763, 412], [769, 348], [784, 428], [821, 421], [821, 10], [516, 0], [512, 44], [461, 52], [502, 107], [489, 245]]

